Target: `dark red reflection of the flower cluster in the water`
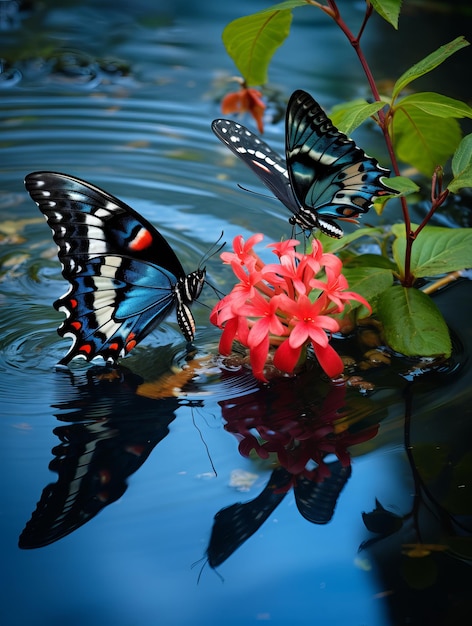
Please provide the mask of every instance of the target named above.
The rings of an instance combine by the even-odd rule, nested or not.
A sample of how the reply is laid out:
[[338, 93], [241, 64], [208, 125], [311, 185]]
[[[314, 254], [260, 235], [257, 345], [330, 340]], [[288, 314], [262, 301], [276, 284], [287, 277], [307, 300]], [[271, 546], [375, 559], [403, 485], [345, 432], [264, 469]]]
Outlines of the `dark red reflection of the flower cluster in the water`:
[[324, 393], [314, 397], [306, 392], [304, 382], [303, 376], [282, 378], [271, 387], [220, 405], [225, 429], [237, 435], [243, 456], [255, 452], [267, 459], [274, 454], [291, 474], [321, 481], [330, 475], [325, 464], [328, 455], [349, 466], [347, 449], [374, 437], [378, 425], [351, 432], [341, 421], [347, 416], [345, 384], [320, 381], [317, 389]]

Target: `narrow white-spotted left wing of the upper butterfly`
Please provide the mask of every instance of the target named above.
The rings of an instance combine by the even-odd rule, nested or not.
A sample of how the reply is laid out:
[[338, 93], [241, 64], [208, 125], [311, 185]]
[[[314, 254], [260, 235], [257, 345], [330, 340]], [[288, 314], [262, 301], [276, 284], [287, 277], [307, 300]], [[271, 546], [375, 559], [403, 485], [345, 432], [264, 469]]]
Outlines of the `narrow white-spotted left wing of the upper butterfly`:
[[242, 124], [218, 119], [212, 122], [215, 135], [239, 157], [292, 213], [299, 212], [284, 159], [265, 141]]

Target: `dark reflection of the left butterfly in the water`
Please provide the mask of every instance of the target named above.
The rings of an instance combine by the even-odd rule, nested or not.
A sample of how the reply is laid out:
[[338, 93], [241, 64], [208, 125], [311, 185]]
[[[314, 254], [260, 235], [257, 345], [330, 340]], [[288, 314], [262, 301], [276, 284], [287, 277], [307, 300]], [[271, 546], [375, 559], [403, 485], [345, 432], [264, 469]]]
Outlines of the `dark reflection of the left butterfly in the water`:
[[[141, 377], [125, 368], [93, 367], [62, 375], [57, 419], [68, 422], [53, 433], [47, 485], [19, 538], [20, 548], [51, 544], [89, 522], [127, 489], [176, 417], [177, 398], [150, 399], [139, 393]], [[72, 389], [71, 389], [72, 384]]]

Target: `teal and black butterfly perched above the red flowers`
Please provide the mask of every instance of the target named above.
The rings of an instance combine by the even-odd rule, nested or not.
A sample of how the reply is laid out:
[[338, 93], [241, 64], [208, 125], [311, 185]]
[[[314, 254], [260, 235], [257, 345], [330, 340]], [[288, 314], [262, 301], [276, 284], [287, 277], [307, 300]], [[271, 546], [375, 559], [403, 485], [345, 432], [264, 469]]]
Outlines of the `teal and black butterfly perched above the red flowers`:
[[215, 135], [255, 172], [292, 213], [292, 225], [330, 237], [344, 235], [334, 221], [353, 221], [376, 197], [396, 194], [382, 178], [390, 171], [341, 133], [305, 91], [290, 97], [285, 119], [285, 159], [250, 130], [231, 120], [212, 122]]

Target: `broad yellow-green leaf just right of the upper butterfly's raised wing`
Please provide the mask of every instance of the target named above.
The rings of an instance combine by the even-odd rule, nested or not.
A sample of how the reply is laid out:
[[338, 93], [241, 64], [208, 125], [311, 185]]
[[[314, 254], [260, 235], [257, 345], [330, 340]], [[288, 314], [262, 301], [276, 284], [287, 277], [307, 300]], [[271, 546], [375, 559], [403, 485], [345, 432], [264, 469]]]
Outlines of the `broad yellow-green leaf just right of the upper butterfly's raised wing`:
[[433, 117], [402, 100], [395, 110], [392, 139], [403, 162], [431, 176], [454, 153], [461, 129], [454, 118]]

